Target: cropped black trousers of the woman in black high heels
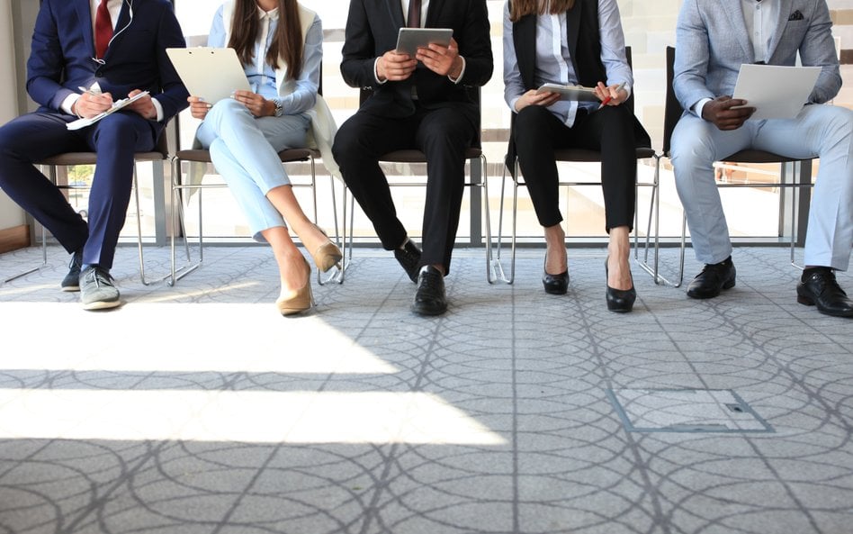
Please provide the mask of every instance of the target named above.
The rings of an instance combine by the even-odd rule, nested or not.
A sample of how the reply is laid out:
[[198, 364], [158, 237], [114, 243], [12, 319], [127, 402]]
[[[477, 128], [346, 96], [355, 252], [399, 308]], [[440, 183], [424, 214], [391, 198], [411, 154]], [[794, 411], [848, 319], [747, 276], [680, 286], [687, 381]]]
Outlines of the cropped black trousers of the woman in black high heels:
[[560, 195], [554, 149], [593, 149], [601, 152], [606, 231], [633, 229], [637, 157], [633, 116], [623, 106], [579, 112], [571, 128], [540, 105], [516, 114], [514, 140], [518, 164], [525, 176], [536, 217], [544, 227], [559, 224]]

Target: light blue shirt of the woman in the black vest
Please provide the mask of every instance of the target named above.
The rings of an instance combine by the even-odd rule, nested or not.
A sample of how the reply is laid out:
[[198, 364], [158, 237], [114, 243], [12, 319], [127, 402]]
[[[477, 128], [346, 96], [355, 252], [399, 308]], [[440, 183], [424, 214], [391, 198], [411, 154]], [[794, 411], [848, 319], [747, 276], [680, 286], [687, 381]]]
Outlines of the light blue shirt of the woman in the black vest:
[[[518, 70], [516, 47], [513, 43], [512, 25], [509, 21], [509, 3], [504, 5], [504, 100], [509, 108], [516, 112], [516, 101], [525, 94], [525, 85]], [[601, 80], [606, 86], [625, 83], [625, 90], [631, 94], [633, 76], [628, 59], [625, 57], [625, 39], [619, 18], [619, 6], [616, 0], [598, 2], [599, 39], [601, 41], [601, 62], [605, 66], [607, 79]], [[578, 75], [571, 64], [566, 14], [543, 14], [536, 17], [536, 67], [534, 84], [544, 83], [574, 86], [578, 84]], [[598, 104], [591, 102], [558, 100], [548, 110], [567, 126], [575, 122], [578, 105], [590, 109]]]

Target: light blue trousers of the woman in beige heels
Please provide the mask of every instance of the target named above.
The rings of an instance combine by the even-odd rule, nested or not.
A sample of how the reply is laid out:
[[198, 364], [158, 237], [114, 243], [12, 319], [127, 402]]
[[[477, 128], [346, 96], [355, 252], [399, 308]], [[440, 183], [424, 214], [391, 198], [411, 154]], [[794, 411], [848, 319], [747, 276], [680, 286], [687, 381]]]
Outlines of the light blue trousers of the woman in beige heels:
[[266, 194], [290, 185], [278, 152], [304, 148], [309, 124], [304, 113], [255, 118], [245, 105], [226, 98], [213, 105], [195, 134], [202, 147], [211, 150], [213, 166], [246, 214], [257, 241], [265, 241], [261, 231], [287, 226]]

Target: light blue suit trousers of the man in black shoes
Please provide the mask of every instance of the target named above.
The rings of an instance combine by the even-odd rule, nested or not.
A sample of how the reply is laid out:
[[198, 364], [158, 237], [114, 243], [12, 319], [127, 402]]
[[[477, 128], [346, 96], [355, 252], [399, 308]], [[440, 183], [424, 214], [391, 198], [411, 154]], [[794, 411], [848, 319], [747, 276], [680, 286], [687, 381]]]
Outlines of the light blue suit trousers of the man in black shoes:
[[720, 131], [692, 113], [678, 121], [672, 166], [696, 259], [719, 263], [732, 254], [712, 164], [749, 148], [821, 158], [804, 264], [847, 270], [853, 247], [853, 112], [832, 105], [806, 105], [794, 119], [747, 121], [733, 131]]

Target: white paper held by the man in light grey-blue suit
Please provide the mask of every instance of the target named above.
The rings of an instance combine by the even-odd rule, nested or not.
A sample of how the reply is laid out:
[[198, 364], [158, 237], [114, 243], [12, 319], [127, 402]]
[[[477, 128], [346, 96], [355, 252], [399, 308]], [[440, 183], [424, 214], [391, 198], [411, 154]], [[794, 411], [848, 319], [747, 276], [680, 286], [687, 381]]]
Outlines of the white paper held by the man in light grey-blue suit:
[[793, 119], [809, 101], [820, 67], [782, 67], [744, 63], [733, 98], [756, 108], [750, 120]]

